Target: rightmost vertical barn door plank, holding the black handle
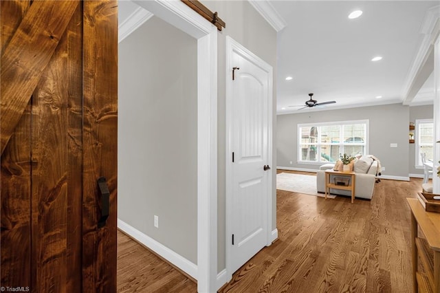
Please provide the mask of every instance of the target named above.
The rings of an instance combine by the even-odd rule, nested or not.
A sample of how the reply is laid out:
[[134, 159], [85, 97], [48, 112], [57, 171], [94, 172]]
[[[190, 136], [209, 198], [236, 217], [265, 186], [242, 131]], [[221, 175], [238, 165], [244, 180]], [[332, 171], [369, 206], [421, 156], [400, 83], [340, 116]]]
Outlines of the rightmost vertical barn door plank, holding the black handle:
[[[83, 292], [116, 292], [118, 3], [84, 2]], [[107, 178], [110, 208], [98, 228], [97, 180]]]

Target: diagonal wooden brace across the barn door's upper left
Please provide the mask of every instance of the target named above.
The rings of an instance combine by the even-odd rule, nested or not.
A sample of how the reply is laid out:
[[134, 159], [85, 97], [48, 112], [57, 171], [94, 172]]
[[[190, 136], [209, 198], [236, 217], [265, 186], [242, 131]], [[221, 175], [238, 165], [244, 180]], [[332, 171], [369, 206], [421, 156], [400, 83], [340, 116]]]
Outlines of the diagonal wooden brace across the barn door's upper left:
[[1, 153], [77, 6], [78, 0], [34, 1], [1, 55]]

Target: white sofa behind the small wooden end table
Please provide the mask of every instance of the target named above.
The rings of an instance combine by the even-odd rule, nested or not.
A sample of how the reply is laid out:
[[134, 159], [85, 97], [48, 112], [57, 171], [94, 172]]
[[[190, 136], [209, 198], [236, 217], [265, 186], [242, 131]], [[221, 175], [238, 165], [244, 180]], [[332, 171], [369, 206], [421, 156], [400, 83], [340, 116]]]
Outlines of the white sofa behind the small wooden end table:
[[[358, 168], [356, 168], [357, 166]], [[331, 168], [331, 165], [327, 164], [327, 167], [322, 167], [323, 168], [316, 173], [316, 188], [318, 189], [318, 193], [325, 193], [325, 169]], [[377, 161], [372, 160], [372, 162], [370, 162], [368, 158], [360, 158], [358, 162], [355, 162], [353, 171], [356, 173], [355, 197], [371, 199], [376, 182]], [[331, 175], [330, 180], [333, 180], [333, 175]], [[350, 191], [340, 189], [331, 188], [330, 193], [350, 196]]]

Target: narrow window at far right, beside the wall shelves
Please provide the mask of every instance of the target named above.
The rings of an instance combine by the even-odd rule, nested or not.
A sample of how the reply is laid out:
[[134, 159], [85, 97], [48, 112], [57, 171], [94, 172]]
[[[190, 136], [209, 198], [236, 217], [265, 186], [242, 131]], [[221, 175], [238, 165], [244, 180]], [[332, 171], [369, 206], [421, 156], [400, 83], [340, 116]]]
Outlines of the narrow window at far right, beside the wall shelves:
[[423, 167], [421, 154], [425, 153], [426, 160], [432, 160], [434, 150], [434, 124], [432, 119], [415, 120], [415, 164]]

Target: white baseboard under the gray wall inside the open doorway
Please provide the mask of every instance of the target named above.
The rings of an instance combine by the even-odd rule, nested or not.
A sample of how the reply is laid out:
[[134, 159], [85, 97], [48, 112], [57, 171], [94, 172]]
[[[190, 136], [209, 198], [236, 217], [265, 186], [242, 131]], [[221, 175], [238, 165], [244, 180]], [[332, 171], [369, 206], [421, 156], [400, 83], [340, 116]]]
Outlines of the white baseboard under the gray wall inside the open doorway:
[[195, 263], [188, 261], [188, 259], [182, 257], [173, 250], [170, 250], [170, 248], [167, 248], [162, 243], [157, 242], [155, 239], [148, 237], [144, 233], [140, 232], [140, 230], [137, 230], [129, 224], [126, 224], [121, 219], [118, 219], [118, 228], [126, 233], [126, 235], [129, 235], [131, 238], [142, 243], [144, 246], [153, 250], [153, 252], [159, 254], [170, 263], [173, 263], [173, 265], [175, 265], [177, 268], [186, 272], [186, 274], [189, 274], [192, 276], [192, 278], [197, 280], [197, 265]]

